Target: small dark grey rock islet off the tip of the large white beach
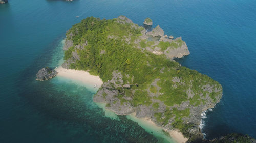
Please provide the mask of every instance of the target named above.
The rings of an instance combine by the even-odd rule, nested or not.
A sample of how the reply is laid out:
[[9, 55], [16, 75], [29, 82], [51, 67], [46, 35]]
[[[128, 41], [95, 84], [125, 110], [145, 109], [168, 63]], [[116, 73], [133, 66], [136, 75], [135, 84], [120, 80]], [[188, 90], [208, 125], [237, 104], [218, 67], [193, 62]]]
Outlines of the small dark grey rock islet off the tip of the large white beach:
[[52, 79], [57, 74], [58, 74], [57, 71], [51, 70], [48, 67], [42, 68], [36, 74], [36, 80], [44, 81], [44, 80]]

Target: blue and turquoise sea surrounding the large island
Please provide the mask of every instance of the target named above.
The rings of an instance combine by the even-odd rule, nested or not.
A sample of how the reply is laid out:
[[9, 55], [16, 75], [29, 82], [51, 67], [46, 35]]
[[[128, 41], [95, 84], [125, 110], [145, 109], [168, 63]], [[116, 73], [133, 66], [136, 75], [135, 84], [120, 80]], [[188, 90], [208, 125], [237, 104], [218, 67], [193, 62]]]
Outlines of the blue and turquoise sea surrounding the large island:
[[190, 55], [177, 61], [222, 84], [221, 102], [203, 119], [207, 138], [256, 138], [256, 1], [9, 0], [0, 5], [0, 142], [163, 142], [125, 116], [104, 116], [93, 90], [35, 81], [40, 68], [58, 64], [73, 24], [120, 15], [139, 25], [150, 17], [153, 27], [182, 36]]

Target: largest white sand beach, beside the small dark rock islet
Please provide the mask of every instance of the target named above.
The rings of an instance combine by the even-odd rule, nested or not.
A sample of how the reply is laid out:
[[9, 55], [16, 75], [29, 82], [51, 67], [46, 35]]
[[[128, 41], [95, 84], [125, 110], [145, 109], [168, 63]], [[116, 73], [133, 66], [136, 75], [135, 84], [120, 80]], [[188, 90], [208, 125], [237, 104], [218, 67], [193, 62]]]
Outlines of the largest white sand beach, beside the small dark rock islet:
[[57, 76], [80, 81], [86, 85], [91, 85], [91, 87], [94, 87], [97, 89], [100, 88], [101, 85], [103, 84], [99, 76], [91, 75], [89, 72], [86, 72], [86, 71], [65, 69], [65, 68], [62, 68], [61, 66], [57, 67], [55, 70], [58, 72]]

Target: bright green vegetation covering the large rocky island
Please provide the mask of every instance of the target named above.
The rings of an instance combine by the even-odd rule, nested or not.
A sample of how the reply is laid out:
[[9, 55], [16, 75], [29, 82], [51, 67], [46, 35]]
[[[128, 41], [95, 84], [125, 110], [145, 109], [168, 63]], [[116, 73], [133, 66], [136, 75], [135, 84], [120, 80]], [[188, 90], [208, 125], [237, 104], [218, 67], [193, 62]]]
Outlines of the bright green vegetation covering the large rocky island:
[[[70, 36], [70, 33], [72, 33], [72, 36]], [[130, 102], [135, 107], [152, 105], [153, 108], [158, 109], [159, 103], [153, 103], [152, 98], [158, 99], [168, 108], [163, 113], [155, 113], [154, 116], [157, 121], [166, 125], [170, 119], [174, 119], [174, 126], [180, 130], [185, 130], [182, 118], [189, 117], [189, 109], [178, 110], [173, 108], [170, 110], [171, 106], [179, 105], [183, 101], [189, 101], [191, 106], [204, 104], [205, 102], [201, 99], [201, 96], [206, 96], [209, 93], [204, 91], [203, 87], [210, 85], [213, 88], [221, 89], [221, 85], [206, 75], [170, 61], [165, 55], [155, 55], [136, 48], [138, 46], [142, 48], [152, 47], [154, 44], [154, 41], [140, 39], [140, 35], [141, 27], [133, 23], [120, 24], [117, 19], [100, 20], [89, 17], [73, 25], [67, 33], [67, 38], [73, 40], [74, 46], [65, 51], [64, 59], [72, 58], [72, 52], [77, 52], [80, 60], [76, 60], [70, 67], [78, 70], [89, 70], [91, 74], [99, 75], [103, 82], [112, 79], [113, 71], [121, 72], [124, 84], [133, 85], [129, 89], [116, 88], [120, 92], [117, 98], [121, 105]], [[136, 39], [140, 40], [137, 44]], [[75, 45], [86, 41], [88, 45], [84, 49], [74, 48]], [[160, 41], [157, 46], [165, 50], [167, 47], [177, 48], [183, 42], [182, 40], [176, 40], [172, 43]], [[100, 54], [102, 50], [105, 51], [104, 54]], [[173, 81], [174, 78], [179, 78], [180, 81]], [[157, 82], [159, 91], [156, 87], [151, 86], [156, 79], [159, 79]], [[150, 97], [148, 96], [148, 89], [151, 93], [160, 94]], [[195, 95], [188, 97], [187, 90], [191, 90]], [[220, 92], [212, 92], [209, 96], [213, 101], [216, 101]], [[124, 95], [132, 97], [133, 100], [125, 100]], [[105, 97], [106, 93], [103, 93], [103, 98]], [[116, 102], [114, 101], [113, 104]]]

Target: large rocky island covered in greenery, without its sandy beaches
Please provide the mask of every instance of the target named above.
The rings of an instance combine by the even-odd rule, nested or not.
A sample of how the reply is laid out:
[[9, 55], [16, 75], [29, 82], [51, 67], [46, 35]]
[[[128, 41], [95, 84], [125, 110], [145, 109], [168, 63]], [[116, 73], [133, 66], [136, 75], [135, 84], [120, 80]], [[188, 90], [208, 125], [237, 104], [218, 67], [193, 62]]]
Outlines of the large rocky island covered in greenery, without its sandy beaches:
[[64, 68], [99, 75], [95, 102], [119, 115], [136, 112], [166, 131], [201, 135], [201, 113], [222, 97], [221, 85], [173, 58], [188, 55], [186, 43], [169, 39], [157, 26], [151, 32], [125, 16], [87, 18], [67, 31]]

